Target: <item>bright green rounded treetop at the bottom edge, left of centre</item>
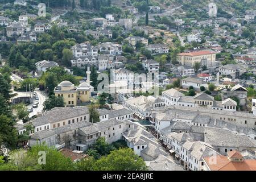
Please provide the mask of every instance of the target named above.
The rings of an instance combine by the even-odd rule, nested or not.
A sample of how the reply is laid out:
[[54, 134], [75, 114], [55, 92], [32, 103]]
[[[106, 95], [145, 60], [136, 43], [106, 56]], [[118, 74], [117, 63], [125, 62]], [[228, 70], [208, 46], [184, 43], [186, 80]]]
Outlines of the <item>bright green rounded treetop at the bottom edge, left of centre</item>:
[[94, 165], [100, 171], [144, 171], [146, 163], [130, 148], [120, 148], [102, 156]]

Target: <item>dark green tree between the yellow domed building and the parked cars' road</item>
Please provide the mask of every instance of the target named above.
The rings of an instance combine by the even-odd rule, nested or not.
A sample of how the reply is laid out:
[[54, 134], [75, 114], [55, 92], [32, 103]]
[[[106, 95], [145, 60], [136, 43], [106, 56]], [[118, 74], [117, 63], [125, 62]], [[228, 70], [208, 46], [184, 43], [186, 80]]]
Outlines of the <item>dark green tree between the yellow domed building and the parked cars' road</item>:
[[49, 96], [43, 104], [43, 111], [48, 111], [53, 109], [54, 107], [64, 107], [65, 102], [63, 97], [56, 97], [55, 95]]

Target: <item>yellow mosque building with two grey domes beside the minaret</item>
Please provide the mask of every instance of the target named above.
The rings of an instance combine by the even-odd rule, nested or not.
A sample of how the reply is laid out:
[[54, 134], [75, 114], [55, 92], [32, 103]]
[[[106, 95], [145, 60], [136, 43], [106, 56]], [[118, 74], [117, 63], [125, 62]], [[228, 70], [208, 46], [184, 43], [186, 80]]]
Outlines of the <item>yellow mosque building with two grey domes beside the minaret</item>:
[[54, 93], [56, 97], [63, 97], [65, 106], [76, 106], [81, 102], [90, 101], [90, 85], [82, 82], [79, 86], [75, 86], [70, 81], [60, 82], [55, 87]]

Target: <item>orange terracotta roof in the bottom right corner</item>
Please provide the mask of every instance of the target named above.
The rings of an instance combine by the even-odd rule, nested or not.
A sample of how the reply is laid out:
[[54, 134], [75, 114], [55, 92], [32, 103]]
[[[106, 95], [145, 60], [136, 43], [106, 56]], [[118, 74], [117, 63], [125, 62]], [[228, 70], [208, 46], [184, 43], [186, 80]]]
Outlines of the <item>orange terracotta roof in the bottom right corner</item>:
[[206, 156], [204, 160], [212, 171], [256, 171], [256, 160], [253, 159], [232, 162], [227, 156], [217, 155], [214, 164], [212, 164], [212, 156]]

